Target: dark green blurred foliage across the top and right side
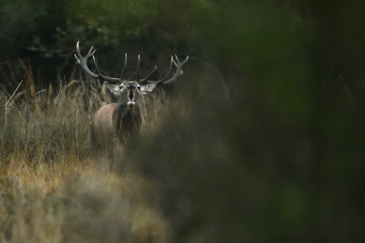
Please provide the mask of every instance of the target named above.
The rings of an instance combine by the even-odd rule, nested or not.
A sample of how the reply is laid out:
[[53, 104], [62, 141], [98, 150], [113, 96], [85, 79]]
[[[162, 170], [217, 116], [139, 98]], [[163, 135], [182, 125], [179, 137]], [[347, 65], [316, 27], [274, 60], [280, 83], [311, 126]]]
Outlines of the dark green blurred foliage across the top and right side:
[[189, 115], [131, 155], [162, 183], [175, 242], [364, 239], [362, 1], [119, 2], [5, 1], [0, 62], [57, 82], [77, 40], [115, 77], [126, 51], [146, 69], [190, 56], [172, 95]]

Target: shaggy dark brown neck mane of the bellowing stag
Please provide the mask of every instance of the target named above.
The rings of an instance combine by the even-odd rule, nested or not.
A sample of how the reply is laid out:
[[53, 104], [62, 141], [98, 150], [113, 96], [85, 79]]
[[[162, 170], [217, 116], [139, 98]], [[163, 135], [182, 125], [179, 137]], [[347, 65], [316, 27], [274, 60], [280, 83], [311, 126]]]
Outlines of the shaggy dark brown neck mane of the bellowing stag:
[[123, 133], [130, 132], [130, 130], [137, 130], [141, 126], [142, 114], [140, 109], [140, 102], [135, 97], [135, 106], [129, 107], [127, 105], [127, 94], [119, 99], [117, 107], [113, 113], [113, 120], [115, 121], [116, 130]]

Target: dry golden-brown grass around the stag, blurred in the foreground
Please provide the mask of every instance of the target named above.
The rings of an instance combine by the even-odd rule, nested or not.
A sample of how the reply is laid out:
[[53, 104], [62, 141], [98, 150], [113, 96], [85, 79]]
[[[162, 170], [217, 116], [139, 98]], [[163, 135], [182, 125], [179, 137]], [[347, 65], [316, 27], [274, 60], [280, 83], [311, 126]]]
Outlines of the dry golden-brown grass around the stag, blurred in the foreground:
[[[27, 74], [1, 90], [0, 242], [169, 242], [172, 226], [156, 203], [161, 184], [123, 152], [114, 163], [92, 154], [89, 124], [95, 100], [111, 102], [106, 87], [39, 91]], [[169, 109], [148, 102], [141, 136]]]

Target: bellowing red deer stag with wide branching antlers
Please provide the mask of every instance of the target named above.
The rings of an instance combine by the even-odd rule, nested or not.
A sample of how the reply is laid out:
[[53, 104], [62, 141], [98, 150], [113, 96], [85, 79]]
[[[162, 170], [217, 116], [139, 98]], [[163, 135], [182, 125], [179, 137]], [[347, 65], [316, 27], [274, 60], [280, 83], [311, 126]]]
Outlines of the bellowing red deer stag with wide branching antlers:
[[[181, 68], [187, 62], [188, 57], [184, 60], [184, 62], [180, 63], [176, 55], [176, 62], [171, 56], [170, 68], [166, 76], [158, 81], [150, 81], [148, 80], [148, 78], [156, 70], [157, 66], [146, 78], [140, 79], [140, 61], [138, 56], [137, 78], [135, 79], [135, 81], [127, 81], [126, 79], [124, 79], [124, 71], [126, 70], [127, 65], [127, 54], [124, 61], [122, 76], [120, 78], [110, 78], [100, 73], [96, 65], [95, 57], [93, 55], [95, 50], [92, 52], [92, 49], [93, 47], [91, 47], [90, 51], [85, 57], [82, 57], [77, 42], [77, 55], [75, 54], [77, 63], [81, 65], [82, 69], [87, 75], [90, 75], [92, 78], [95, 79], [101, 79], [103, 81], [106, 81], [105, 85], [110, 89], [110, 91], [113, 94], [119, 96], [118, 103], [111, 103], [109, 105], [100, 107], [100, 109], [97, 110], [95, 115], [93, 116], [91, 124], [92, 143], [94, 146], [110, 146], [114, 137], [117, 137], [119, 141], [123, 143], [123, 140], [126, 139], [126, 137], [132, 131], [137, 131], [141, 125], [141, 95], [151, 93], [157, 85], [167, 85], [174, 82], [178, 76], [183, 74]], [[93, 73], [87, 66], [87, 60], [91, 55], [93, 56], [96, 74]], [[168, 76], [172, 71], [172, 63], [174, 63], [176, 66], [176, 72], [172, 78], [168, 79]], [[108, 82], [119, 83], [119, 85], [112, 85]]]

